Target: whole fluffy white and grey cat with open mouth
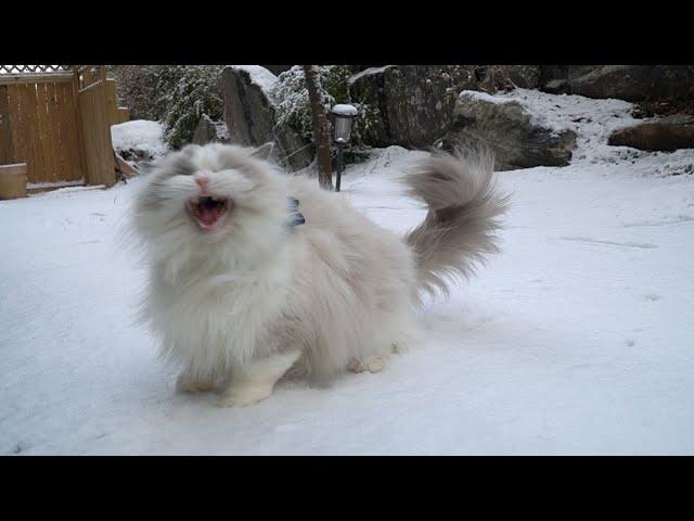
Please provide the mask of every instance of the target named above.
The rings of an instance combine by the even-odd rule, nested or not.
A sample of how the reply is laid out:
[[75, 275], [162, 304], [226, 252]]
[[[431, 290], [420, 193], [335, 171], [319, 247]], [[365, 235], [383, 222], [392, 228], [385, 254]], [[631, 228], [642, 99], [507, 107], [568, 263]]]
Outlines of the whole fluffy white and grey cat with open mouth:
[[[420, 293], [446, 291], [448, 275], [497, 251], [505, 207], [490, 155], [437, 152], [404, 178], [429, 209], [402, 238], [266, 153], [189, 145], [136, 203], [150, 269], [143, 318], [180, 364], [179, 386], [221, 386], [223, 405], [262, 399], [284, 374], [380, 370], [415, 338]], [[288, 198], [305, 225], [287, 225]]]

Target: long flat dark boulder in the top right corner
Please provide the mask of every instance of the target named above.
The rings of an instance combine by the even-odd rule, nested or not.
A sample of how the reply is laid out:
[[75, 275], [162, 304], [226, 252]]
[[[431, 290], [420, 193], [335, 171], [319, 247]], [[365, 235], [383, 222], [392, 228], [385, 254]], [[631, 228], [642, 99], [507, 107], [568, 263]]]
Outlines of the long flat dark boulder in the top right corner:
[[545, 92], [640, 102], [694, 96], [694, 65], [544, 66]]

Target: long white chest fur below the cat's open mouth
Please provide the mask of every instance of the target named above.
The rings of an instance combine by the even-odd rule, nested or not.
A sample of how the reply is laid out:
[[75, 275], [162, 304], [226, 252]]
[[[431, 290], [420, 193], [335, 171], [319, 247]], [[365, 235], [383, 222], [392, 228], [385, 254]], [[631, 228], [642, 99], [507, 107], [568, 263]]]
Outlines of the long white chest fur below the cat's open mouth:
[[286, 304], [290, 247], [277, 255], [279, 262], [246, 269], [195, 263], [177, 280], [163, 275], [165, 266], [154, 266], [145, 315], [163, 339], [163, 354], [195, 380], [219, 382], [247, 365]]

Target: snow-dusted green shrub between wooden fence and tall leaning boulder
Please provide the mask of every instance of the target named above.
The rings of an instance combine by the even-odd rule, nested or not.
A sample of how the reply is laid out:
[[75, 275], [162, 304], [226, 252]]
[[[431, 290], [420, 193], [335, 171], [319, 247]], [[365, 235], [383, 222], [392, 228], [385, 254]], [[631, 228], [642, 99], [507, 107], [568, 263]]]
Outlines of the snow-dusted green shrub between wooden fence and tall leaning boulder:
[[165, 67], [157, 81], [157, 110], [164, 124], [164, 140], [174, 149], [189, 143], [203, 114], [223, 117], [219, 93], [222, 65], [174, 65]]

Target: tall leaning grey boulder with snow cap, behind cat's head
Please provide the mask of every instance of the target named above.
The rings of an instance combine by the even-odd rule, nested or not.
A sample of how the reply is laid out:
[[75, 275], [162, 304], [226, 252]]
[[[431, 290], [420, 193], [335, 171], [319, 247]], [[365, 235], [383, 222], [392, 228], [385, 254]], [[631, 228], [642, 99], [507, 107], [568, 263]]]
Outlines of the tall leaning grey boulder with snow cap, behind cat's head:
[[270, 88], [277, 77], [259, 66], [228, 66], [220, 78], [224, 120], [232, 143], [274, 143], [274, 160], [291, 169], [313, 161], [310, 143], [291, 128], [278, 127]]

